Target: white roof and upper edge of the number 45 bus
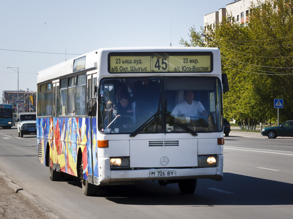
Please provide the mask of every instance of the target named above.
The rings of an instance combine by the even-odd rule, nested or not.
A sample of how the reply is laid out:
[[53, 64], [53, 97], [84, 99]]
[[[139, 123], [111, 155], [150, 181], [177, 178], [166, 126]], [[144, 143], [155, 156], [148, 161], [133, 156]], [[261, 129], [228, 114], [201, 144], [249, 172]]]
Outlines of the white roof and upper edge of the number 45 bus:
[[[83, 72], [96, 69], [104, 69], [108, 67], [108, 54], [110, 52], [212, 52], [220, 55], [218, 48], [213, 47], [117, 47], [117, 48], [101, 48], [56, 64], [52, 67], [38, 72], [37, 84], [52, 81], [70, 75], [73, 72], [74, 60], [86, 57], [85, 68]], [[216, 61], [216, 60], [214, 60]], [[220, 60], [219, 60], [220, 62]], [[103, 66], [102, 66], [103, 65]], [[81, 70], [82, 72], [82, 70]]]

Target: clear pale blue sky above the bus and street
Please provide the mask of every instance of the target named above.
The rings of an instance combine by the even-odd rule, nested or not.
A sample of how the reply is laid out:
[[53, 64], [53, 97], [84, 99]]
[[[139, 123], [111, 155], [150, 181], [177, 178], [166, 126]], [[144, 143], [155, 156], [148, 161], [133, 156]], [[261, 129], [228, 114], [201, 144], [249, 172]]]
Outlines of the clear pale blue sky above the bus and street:
[[36, 91], [39, 71], [99, 48], [182, 46], [233, 1], [0, 0], [0, 92]]

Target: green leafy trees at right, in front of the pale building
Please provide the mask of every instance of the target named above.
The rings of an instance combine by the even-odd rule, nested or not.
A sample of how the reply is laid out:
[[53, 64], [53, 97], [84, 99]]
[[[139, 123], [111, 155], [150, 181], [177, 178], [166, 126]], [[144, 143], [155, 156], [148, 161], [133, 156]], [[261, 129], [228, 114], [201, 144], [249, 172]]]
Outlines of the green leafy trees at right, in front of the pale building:
[[[274, 99], [284, 99], [280, 121], [293, 118], [293, 0], [266, 0], [251, 4], [249, 23], [224, 19], [205, 35], [219, 45], [222, 73], [228, 75], [230, 91], [223, 96], [224, 116], [242, 120], [276, 121]], [[234, 15], [228, 15], [227, 17]], [[190, 29], [185, 46], [202, 46], [200, 34]]]

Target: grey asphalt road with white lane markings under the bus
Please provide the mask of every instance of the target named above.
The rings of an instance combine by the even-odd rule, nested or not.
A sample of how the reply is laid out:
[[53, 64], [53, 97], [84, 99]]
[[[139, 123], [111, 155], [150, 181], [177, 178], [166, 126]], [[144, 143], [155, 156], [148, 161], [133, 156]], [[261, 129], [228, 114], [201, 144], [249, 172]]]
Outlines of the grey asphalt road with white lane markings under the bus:
[[177, 184], [109, 186], [86, 197], [78, 181], [53, 182], [37, 161], [35, 135], [0, 129], [0, 170], [60, 218], [291, 218], [293, 138], [225, 137], [224, 180], [200, 179], [194, 194]]

